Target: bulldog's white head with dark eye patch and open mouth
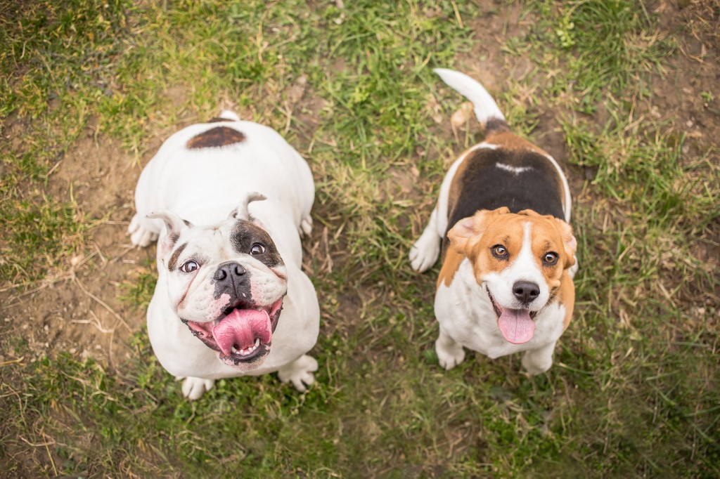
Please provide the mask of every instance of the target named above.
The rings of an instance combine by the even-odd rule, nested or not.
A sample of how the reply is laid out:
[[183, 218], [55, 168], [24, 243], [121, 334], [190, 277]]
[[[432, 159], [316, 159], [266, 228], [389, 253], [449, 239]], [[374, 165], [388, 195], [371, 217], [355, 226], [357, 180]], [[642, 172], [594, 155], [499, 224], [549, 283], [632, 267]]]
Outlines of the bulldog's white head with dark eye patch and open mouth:
[[148, 215], [165, 222], [158, 257], [171, 307], [222, 362], [242, 370], [269, 355], [287, 293], [282, 257], [248, 213], [251, 201], [263, 199], [248, 194], [228, 219], [210, 227], [195, 227], [171, 211]]

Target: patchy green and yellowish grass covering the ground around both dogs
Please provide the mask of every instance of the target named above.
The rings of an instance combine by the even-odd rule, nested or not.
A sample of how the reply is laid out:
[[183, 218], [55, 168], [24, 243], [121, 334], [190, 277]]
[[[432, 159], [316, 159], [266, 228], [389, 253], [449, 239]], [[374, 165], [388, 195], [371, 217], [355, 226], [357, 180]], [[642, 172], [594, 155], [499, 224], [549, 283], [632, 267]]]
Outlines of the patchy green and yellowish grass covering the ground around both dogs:
[[[144, 329], [117, 370], [64, 351], [16, 360], [35, 352], [26, 337], [4, 334], [7, 477], [720, 475], [717, 147], [647, 114], [649, 85], [664, 81], [685, 35], [661, 29], [649, 6], [1, 8], [7, 287], [30, 288], [89, 250], [100, 218], [47, 186], [90, 122], [140, 162], [154, 134], [230, 106], [309, 158], [318, 194], [305, 263], [323, 310], [310, 391], [240, 378], [194, 403], [179, 397]], [[523, 27], [486, 35], [510, 9]], [[519, 357], [472, 353], [442, 371], [432, 348], [438, 267], [415, 275], [406, 260], [447, 165], [482, 138], [471, 128], [456, 143], [446, 125], [461, 100], [431, 68], [466, 69], [479, 45], [497, 50], [487, 60], [492, 93], [510, 122], [541, 145], [559, 134], [577, 186], [575, 319], [552, 370], [535, 378]], [[520, 60], [531, 68], [510, 76]], [[143, 265], [118, 301], [143, 309], [154, 281]]]

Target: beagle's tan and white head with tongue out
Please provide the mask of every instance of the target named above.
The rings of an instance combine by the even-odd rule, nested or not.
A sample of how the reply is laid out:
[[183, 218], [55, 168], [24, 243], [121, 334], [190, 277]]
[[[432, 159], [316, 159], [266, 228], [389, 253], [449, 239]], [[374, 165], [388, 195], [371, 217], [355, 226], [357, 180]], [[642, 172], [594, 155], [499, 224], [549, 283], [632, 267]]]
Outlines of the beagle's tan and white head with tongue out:
[[563, 270], [575, 264], [577, 242], [560, 219], [509, 211], [478, 211], [457, 222], [448, 237], [472, 263], [503, 337], [522, 344], [533, 338], [534, 317], [556, 298]]

